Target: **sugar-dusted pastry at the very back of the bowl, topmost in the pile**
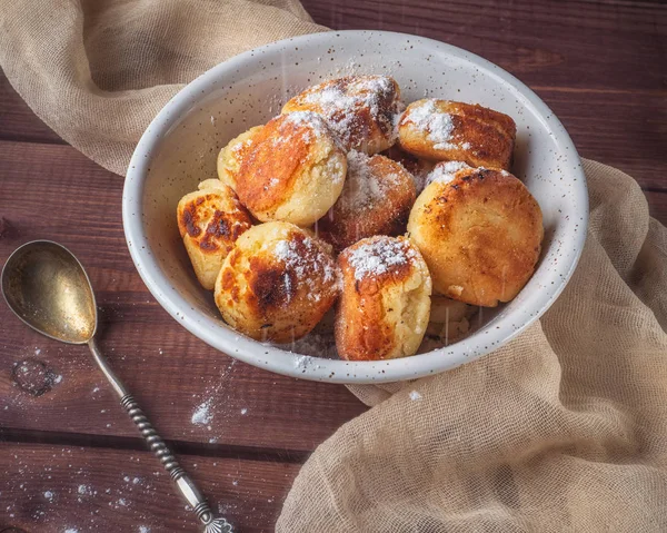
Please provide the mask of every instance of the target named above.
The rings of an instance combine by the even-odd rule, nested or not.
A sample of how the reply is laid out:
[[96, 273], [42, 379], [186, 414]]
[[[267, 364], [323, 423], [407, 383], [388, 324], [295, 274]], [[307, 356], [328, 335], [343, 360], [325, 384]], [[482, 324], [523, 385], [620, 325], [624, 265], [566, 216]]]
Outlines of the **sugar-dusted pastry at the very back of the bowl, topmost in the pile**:
[[388, 76], [347, 76], [309, 87], [289, 100], [282, 112], [320, 113], [346, 150], [372, 155], [395, 141], [394, 116], [400, 89]]

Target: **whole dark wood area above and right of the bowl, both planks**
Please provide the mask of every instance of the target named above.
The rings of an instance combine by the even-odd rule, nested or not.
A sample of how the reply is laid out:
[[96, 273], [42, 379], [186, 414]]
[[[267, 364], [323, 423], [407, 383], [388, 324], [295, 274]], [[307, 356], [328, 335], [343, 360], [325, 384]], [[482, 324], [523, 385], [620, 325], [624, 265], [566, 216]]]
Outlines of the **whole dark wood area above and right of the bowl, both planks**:
[[517, 76], [551, 107], [583, 157], [667, 189], [667, 4], [305, 0], [316, 22], [429, 37]]

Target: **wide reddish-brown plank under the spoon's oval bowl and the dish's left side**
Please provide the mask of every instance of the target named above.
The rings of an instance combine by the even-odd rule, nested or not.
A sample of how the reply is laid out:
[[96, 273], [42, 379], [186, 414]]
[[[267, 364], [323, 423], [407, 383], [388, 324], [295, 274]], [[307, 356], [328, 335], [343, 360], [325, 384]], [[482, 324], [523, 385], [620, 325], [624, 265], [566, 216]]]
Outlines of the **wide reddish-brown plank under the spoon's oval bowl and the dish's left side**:
[[[366, 409], [342, 386], [237, 363], [182, 329], [135, 270], [121, 189], [122, 178], [69, 146], [1, 142], [0, 198], [10, 200], [0, 204], [0, 261], [38, 238], [78, 255], [97, 292], [101, 345], [165, 437], [303, 452]], [[6, 305], [0, 324], [0, 426], [137, 435], [86, 347], [40, 336]], [[50, 389], [34, 395], [44, 379]], [[208, 416], [193, 423], [202, 405]]]

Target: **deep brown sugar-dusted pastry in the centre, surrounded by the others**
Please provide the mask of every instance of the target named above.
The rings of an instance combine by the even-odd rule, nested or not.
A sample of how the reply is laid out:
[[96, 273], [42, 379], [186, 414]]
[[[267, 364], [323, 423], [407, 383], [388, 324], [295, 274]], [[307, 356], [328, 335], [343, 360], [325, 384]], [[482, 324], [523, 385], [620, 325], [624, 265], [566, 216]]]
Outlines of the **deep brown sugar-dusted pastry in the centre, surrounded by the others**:
[[398, 162], [352, 151], [338, 201], [318, 221], [321, 238], [340, 251], [374, 235], [400, 235], [416, 198], [415, 181]]

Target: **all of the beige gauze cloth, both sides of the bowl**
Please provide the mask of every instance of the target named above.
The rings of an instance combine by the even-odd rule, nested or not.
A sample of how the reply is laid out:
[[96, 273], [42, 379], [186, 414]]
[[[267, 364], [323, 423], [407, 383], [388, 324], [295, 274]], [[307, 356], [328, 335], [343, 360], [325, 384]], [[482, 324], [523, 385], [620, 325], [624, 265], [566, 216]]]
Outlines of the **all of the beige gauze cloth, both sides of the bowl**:
[[[292, 0], [0, 7], [13, 87], [118, 174], [182, 83], [323, 30]], [[630, 177], [585, 169], [588, 240], [551, 309], [466, 366], [350, 387], [375, 407], [315, 451], [279, 532], [667, 531], [667, 230]]]

